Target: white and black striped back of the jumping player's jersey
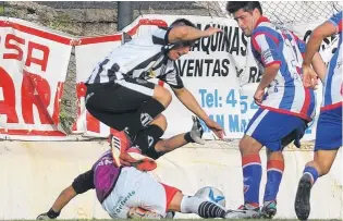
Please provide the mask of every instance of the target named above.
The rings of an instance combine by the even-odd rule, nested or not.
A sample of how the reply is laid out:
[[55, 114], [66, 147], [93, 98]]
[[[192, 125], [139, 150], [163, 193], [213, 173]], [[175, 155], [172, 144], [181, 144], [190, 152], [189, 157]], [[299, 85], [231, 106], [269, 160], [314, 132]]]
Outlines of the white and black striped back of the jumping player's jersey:
[[140, 77], [164, 58], [163, 46], [167, 30], [158, 28], [152, 34], [139, 36], [114, 48], [93, 70], [86, 84], [106, 84], [128, 77]]

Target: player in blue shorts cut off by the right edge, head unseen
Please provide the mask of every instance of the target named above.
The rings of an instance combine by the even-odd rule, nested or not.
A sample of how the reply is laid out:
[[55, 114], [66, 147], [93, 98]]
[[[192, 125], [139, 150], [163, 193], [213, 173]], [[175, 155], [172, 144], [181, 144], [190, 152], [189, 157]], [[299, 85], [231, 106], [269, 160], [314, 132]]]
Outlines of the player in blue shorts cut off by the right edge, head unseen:
[[[339, 45], [331, 58], [328, 71], [311, 70], [310, 62], [323, 38], [339, 34]], [[329, 173], [342, 140], [342, 11], [314, 29], [308, 39], [303, 63], [304, 85], [315, 87], [317, 74], [323, 83], [322, 103], [317, 123], [314, 160], [306, 163], [295, 197], [295, 213], [299, 220], [307, 220], [310, 212], [310, 189], [317, 179]]]

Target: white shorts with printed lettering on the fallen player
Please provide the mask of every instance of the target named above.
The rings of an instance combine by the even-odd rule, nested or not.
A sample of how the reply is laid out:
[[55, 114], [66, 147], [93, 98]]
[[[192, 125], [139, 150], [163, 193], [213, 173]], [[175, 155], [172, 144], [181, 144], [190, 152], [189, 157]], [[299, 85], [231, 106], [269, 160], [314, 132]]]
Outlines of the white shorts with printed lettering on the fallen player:
[[140, 207], [162, 217], [177, 188], [157, 182], [150, 174], [135, 168], [123, 168], [102, 208], [111, 218], [126, 219], [132, 207]]

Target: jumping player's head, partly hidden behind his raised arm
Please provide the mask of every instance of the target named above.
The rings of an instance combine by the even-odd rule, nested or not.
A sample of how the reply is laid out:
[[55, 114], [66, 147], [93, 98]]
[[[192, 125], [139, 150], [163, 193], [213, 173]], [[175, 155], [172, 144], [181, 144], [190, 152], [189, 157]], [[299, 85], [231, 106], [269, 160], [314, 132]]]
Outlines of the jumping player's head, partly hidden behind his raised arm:
[[[191, 26], [191, 27], [196, 27], [192, 22], [189, 22], [186, 19], [179, 19], [175, 20], [171, 26], [170, 29], [173, 27], [177, 26]], [[168, 57], [171, 60], [177, 60], [180, 57], [186, 54], [189, 52], [191, 47], [195, 44], [195, 40], [189, 40], [189, 41], [179, 41], [175, 44], [172, 44], [169, 48], [168, 51]]]

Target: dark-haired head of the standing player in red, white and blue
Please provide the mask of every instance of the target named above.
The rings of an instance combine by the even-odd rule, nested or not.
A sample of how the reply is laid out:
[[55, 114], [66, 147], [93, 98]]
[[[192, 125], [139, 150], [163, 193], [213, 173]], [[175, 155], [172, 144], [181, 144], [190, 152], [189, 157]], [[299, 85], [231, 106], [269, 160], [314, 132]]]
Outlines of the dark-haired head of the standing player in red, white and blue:
[[229, 1], [226, 11], [237, 21], [245, 36], [250, 36], [257, 20], [262, 15], [258, 1]]

